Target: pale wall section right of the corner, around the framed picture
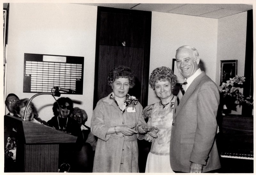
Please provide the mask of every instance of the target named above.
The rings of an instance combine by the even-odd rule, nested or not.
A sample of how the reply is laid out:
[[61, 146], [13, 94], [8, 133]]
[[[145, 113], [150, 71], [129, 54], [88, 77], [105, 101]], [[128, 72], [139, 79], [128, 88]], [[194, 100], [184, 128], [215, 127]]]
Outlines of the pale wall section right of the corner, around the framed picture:
[[[247, 12], [218, 20], [216, 83], [220, 81], [220, 60], [238, 60], [237, 74], [244, 76], [246, 25]], [[237, 106], [237, 110], [231, 114], [241, 115], [241, 107]]]

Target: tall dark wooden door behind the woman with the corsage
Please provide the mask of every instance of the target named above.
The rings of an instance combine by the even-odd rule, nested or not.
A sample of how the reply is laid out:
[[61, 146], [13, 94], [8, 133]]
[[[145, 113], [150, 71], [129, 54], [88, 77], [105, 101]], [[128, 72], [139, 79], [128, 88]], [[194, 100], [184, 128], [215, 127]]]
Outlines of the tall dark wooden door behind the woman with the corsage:
[[128, 93], [147, 106], [150, 34], [151, 12], [98, 7], [93, 108], [112, 92], [108, 73], [119, 65], [132, 68], [136, 84]]

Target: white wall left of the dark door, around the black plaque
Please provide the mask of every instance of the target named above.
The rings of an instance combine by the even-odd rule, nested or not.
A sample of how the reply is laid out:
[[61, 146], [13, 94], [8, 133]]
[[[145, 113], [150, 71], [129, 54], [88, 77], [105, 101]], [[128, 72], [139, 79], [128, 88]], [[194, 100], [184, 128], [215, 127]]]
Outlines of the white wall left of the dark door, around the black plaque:
[[[84, 57], [83, 95], [65, 95], [81, 101], [74, 107], [88, 114], [90, 126], [93, 106], [97, 6], [55, 3], [10, 3], [7, 60], [7, 94], [20, 99], [35, 93], [23, 93], [24, 53]], [[57, 97], [58, 98], [58, 97]], [[32, 102], [39, 117], [53, 116], [51, 95], [41, 95]]]

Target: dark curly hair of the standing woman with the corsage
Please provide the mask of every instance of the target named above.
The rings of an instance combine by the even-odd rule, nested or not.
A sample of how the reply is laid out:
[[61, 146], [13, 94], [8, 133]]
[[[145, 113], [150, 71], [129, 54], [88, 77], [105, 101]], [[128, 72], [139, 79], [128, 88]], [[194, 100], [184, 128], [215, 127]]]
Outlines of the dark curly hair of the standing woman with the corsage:
[[112, 83], [118, 78], [128, 78], [130, 88], [135, 86], [135, 75], [131, 68], [126, 66], [117, 66], [113, 68], [108, 74], [108, 85], [111, 86]]

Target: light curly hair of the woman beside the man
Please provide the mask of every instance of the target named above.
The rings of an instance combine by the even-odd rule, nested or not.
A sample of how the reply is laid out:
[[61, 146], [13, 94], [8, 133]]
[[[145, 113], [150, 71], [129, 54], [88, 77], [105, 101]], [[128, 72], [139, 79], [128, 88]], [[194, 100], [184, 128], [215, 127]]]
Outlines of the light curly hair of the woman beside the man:
[[177, 76], [172, 73], [172, 69], [163, 66], [153, 70], [149, 77], [149, 84], [153, 90], [157, 81], [168, 81], [173, 87], [177, 82]]

